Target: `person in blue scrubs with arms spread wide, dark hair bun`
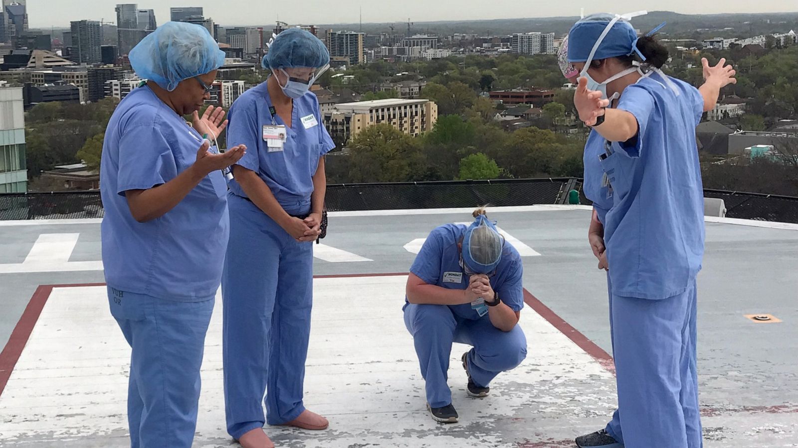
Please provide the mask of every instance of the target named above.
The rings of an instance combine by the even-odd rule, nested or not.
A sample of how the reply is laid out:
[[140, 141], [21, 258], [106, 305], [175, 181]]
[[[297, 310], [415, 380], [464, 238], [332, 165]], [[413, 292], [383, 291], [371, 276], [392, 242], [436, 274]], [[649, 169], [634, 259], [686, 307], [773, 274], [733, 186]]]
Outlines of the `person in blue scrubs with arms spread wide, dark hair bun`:
[[702, 446], [696, 367], [696, 277], [704, 199], [695, 127], [734, 81], [704, 64], [694, 88], [667, 77], [668, 50], [638, 37], [631, 16], [596, 14], [568, 37], [580, 71], [579, 117], [593, 131], [585, 184], [594, 202], [591, 246], [607, 269], [618, 411], [582, 448]]

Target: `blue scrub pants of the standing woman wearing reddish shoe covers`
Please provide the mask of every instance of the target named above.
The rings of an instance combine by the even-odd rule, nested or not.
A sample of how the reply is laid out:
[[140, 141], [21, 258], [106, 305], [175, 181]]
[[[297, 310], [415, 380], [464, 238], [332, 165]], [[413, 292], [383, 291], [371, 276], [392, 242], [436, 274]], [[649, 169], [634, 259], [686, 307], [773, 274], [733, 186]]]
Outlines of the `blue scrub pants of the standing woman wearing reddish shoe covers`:
[[252, 202], [228, 198], [230, 242], [222, 274], [224, 401], [227, 432], [238, 439], [264, 422], [280, 425], [305, 411], [313, 244], [296, 242]]

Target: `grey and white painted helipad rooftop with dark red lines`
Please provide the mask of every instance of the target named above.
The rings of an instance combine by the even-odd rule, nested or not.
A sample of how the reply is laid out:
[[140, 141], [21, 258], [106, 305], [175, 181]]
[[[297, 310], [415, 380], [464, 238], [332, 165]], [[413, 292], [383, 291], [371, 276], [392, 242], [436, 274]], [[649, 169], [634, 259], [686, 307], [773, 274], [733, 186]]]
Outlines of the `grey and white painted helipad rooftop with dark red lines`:
[[[527, 360], [470, 399], [452, 349], [460, 422], [426, 414], [401, 316], [405, 274], [434, 226], [471, 210], [340, 212], [315, 246], [306, 405], [320, 433], [267, 426], [278, 446], [574, 446], [614, 408], [606, 280], [590, 209], [488, 210], [523, 255]], [[713, 218], [699, 276], [699, 379], [707, 448], [798, 446], [798, 225]], [[0, 222], [0, 446], [128, 446], [129, 348], [109, 315], [98, 220]], [[356, 291], [358, 300], [347, 297]], [[341, 304], [346, 301], [346, 306]], [[207, 336], [196, 447], [224, 430], [221, 309]], [[768, 313], [781, 322], [745, 317]]]

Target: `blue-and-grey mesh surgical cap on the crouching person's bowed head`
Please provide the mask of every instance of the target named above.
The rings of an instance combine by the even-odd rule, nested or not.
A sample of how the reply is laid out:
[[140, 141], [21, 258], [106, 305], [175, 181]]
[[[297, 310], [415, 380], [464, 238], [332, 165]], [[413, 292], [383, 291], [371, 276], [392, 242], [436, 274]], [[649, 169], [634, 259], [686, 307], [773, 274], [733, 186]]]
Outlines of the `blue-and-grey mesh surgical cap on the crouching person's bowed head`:
[[502, 246], [496, 225], [480, 214], [465, 230], [463, 262], [475, 273], [490, 273], [501, 261]]

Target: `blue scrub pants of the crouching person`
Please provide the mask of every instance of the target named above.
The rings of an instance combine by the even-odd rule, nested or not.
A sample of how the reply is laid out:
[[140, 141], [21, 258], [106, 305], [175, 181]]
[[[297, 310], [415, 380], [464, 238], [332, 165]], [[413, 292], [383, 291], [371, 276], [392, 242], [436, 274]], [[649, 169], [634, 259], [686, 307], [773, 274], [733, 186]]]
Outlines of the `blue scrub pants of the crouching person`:
[[488, 387], [496, 375], [512, 370], [527, 357], [523, 330], [516, 325], [503, 332], [491, 324], [487, 315], [469, 320], [457, 316], [446, 305], [407, 304], [405, 326], [413, 335], [430, 407], [452, 404], [452, 391], [446, 382], [453, 342], [474, 347], [468, 353], [468, 372], [481, 387]]

